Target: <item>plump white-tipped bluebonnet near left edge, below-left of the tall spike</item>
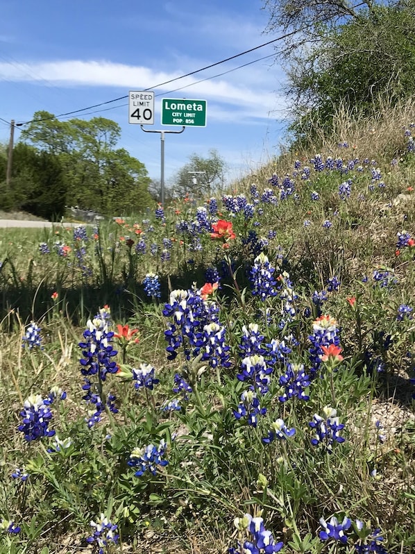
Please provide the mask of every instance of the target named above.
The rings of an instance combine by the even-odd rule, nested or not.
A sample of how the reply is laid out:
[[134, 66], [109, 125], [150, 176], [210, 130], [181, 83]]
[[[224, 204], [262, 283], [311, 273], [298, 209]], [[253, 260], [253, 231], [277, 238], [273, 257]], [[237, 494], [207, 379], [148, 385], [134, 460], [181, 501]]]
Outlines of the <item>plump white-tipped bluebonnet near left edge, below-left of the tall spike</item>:
[[24, 433], [27, 442], [55, 435], [55, 431], [49, 429], [49, 423], [53, 419], [50, 404], [49, 398], [42, 399], [40, 394], [31, 394], [24, 401], [24, 409], [20, 412], [22, 424], [17, 429]]

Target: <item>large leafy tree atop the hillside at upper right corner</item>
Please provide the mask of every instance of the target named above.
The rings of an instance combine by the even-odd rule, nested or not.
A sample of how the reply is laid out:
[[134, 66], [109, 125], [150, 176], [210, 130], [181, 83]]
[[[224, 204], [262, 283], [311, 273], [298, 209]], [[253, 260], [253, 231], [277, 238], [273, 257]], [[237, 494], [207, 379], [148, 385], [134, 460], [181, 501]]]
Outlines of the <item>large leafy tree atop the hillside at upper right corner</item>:
[[[334, 112], [370, 115], [380, 102], [396, 103], [415, 92], [415, 1], [389, 6], [344, 1], [271, 2], [270, 19], [298, 29], [293, 14], [312, 28], [312, 40], [287, 45], [284, 56], [296, 140], [312, 140], [314, 126], [331, 130]], [[294, 12], [287, 12], [294, 6]]]

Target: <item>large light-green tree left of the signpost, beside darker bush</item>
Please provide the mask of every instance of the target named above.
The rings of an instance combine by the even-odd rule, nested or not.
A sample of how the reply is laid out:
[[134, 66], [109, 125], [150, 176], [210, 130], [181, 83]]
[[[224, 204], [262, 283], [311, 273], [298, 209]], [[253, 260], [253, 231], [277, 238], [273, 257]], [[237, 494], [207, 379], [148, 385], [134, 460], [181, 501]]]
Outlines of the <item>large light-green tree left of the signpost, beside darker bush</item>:
[[146, 168], [117, 149], [120, 136], [120, 126], [111, 119], [59, 121], [49, 112], [36, 112], [21, 138], [37, 152], [58, 156], [67, 204], [112, 215], [144, 209], [151, 202]]

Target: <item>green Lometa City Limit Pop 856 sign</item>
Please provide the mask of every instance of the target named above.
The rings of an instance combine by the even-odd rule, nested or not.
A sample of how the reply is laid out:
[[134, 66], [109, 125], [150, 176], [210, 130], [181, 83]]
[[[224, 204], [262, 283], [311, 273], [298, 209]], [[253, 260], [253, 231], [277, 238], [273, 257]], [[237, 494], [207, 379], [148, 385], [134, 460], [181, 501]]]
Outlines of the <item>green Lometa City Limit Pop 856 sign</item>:
[[162, 125], [206, 126], [206, 101], [162, 99]]

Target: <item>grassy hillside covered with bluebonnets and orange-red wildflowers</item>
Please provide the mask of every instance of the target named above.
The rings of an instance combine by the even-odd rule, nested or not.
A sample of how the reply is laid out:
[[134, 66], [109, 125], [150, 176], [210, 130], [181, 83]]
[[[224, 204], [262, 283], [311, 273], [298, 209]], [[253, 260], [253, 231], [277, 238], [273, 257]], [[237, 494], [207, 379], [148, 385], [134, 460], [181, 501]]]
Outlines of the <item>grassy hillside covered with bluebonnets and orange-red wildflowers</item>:
[[0, 230], [0, 553], [414, 550], [412, 121]]

